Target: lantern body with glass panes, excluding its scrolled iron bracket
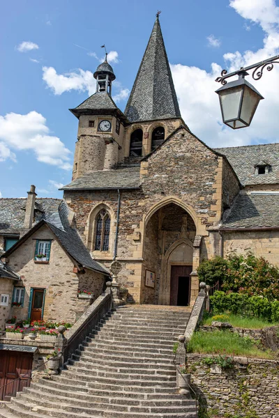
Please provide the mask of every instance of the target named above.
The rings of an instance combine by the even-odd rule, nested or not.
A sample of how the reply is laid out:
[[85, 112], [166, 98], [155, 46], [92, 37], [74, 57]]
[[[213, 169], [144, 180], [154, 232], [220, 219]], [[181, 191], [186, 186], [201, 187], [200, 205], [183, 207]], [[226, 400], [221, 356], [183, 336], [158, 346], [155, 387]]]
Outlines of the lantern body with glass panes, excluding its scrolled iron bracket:
[[255, 87], [246, 81], [246, 75], [248, 72], [239, 71], [238, 80], [227, 83], [216, 91], [219, 95], [223, 122], [233, 129], [249, 126], [259, 100], [263, 99]]

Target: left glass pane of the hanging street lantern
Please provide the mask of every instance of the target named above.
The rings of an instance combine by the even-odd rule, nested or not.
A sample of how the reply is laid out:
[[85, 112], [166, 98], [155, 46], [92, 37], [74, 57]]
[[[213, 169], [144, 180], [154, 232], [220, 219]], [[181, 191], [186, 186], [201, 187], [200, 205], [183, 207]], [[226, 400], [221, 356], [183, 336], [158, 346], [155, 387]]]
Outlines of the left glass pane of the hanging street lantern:
[[239, 107], [243, 86], [236, 86], [220, 91], [220, 105], [223, 110], [224, 122], [239, 118]]

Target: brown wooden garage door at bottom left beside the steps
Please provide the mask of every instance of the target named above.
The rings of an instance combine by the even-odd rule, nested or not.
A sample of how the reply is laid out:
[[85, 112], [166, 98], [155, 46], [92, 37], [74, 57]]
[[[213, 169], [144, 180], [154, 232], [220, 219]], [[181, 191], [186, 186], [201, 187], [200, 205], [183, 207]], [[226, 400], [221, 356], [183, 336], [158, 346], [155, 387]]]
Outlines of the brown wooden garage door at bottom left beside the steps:
[[0, 350], [0, 401], [10, 401], [10, 396], [30, 386], [32, 360], [32, 353]]

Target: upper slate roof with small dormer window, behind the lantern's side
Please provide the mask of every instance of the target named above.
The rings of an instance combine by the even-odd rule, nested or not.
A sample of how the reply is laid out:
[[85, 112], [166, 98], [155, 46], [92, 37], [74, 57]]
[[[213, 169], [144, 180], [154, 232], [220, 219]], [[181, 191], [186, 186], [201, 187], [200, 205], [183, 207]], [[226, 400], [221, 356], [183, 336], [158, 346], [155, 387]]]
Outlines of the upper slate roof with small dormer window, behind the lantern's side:
[[[215, 148], [227, 157], [242, 185], [268, 185], [279, 183], [279, 144]], [[257, 174], [255, 166], [271, 166], [270, 172]]]

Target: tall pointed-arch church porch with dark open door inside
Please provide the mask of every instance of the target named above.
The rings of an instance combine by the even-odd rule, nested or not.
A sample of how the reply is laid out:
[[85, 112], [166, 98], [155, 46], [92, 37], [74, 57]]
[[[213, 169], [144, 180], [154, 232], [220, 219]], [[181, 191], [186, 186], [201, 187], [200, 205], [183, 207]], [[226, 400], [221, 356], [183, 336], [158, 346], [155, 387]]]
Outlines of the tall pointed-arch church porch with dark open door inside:
[[[195, 235], [193, 218], [175, 203], [153, 213], [144, 235], [143, 303], [190, 304]], [[153, 287], [148, 282], [150, 274], [155, 277]]]

